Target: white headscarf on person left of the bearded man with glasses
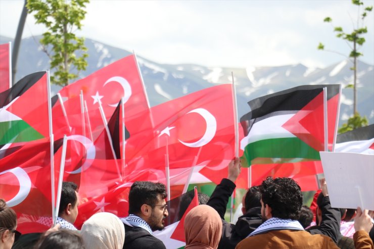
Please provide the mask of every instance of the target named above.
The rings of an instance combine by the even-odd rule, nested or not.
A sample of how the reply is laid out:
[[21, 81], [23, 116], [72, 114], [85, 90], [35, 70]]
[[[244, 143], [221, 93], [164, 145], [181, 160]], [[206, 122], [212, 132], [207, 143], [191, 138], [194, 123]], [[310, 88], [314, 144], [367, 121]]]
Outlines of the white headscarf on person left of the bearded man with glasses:
[[81, 235], [86, 248], [122, 249], [125, 227], [114, 214], [97, 213], [84, 222]]

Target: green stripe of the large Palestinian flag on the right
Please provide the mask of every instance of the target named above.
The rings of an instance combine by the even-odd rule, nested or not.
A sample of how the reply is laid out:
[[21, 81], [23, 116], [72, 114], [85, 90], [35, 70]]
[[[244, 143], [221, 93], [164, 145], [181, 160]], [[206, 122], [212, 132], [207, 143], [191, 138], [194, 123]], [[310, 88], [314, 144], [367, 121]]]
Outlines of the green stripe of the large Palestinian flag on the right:
[[[283, 159], [287, 161], [292, 159], [297, 159], [296, 161], [320, 160], [319, 152], [297, 137], [264, 139], [249, 143], [245, 147], [244, 156], [248, 165], [243, 165], [242, 162], [243, 167], [254, 164], [255, 159], [266, 158], [276, 159], [276, 163], [284, 161]], [[256, 160], [256, 164], [261, 162], [269, 163], [268, 160]]]

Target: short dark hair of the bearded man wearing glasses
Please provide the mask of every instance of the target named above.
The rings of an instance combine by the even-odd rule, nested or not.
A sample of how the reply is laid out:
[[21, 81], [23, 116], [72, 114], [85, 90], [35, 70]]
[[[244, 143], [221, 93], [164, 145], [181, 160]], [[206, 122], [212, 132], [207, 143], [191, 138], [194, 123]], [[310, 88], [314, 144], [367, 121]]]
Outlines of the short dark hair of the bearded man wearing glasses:
[[128, 194], [128, 213], [138, 214], [143, 204], [156, 205], [158, 195], [161, 195], [162, 199], [166, 198], [164, 184], [150, 181], [135, 181]]

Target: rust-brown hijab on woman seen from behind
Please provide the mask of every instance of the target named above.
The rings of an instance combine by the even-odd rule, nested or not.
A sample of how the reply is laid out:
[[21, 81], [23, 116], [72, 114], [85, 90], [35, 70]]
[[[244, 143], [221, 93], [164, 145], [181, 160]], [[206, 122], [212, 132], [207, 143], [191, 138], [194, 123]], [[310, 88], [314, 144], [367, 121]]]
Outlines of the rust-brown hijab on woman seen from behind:
[[185, 249], [217, 249], [222, 221], [217, 211], [207, 205], [193, 208], [184, 219]]

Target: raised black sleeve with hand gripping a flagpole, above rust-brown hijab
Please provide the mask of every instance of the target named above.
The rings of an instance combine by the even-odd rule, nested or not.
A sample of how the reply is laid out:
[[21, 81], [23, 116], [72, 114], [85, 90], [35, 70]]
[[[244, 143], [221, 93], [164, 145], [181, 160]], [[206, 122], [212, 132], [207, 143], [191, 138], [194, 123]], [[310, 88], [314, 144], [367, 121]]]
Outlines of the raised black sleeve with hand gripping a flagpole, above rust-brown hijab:
[[235, 183], [223, 178], [221, 183], [219, 183], [214, 189], [207, 203], [208, 206], [214, 208], [218, 212], [222, 220], [224, 219], [224, 215], [226, 213], [228, 198], [231, 196], [235, 187]]

